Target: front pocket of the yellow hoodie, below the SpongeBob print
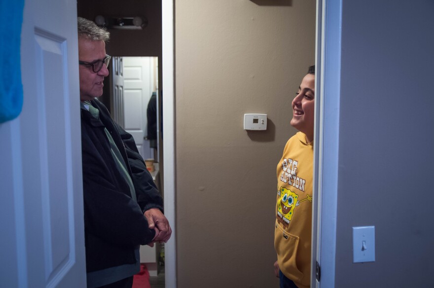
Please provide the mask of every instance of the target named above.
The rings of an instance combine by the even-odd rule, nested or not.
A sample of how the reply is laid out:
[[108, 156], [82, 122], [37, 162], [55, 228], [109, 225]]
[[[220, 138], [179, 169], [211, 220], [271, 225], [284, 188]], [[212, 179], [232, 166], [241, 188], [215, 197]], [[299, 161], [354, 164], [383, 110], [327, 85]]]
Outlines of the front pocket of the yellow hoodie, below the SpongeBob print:
[[277, 252], [279, 268], [292, 281], [301, 283], [303, 273], [297, 267], [297, 252], [299, 237], [283, 230], [276, 221], [274, 232], [274, 248]]

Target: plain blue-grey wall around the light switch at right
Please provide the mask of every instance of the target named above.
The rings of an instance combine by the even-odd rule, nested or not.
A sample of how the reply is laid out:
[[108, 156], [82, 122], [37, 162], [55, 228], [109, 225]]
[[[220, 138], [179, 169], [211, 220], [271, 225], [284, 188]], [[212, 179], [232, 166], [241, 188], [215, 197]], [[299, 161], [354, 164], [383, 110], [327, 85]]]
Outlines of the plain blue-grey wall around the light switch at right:
[[[335, 287], [433, 287], [434, 1], [343, 1]], [[352, 263], [352, 226], [376, 261]]]

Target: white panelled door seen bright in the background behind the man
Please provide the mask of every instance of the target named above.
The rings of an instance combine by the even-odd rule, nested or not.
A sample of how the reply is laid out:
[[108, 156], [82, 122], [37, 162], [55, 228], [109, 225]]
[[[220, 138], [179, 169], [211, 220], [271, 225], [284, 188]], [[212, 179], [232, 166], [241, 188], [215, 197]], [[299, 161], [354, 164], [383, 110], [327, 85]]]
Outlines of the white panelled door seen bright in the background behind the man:
[[144, 159], [153, 158], [147, 135], [146, 108], [155, 87], [155, 57], [123, 57], [125, 130]]

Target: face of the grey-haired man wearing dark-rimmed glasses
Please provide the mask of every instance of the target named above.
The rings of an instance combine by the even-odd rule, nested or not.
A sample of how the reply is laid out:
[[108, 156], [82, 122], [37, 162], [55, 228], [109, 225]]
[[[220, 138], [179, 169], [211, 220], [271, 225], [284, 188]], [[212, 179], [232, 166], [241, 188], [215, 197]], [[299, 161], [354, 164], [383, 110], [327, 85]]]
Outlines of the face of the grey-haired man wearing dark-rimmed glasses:
[[[78, 38], [78, 60], [93, 62], [106, 57], [106, 43], [104, 41], [91, 41]], [[88, 65], [79, 65], [80, 74], [80, 101], [92, 100], [103, 95], [103, 80], [109, 75], [106, 65], [99, 72], [93, 72]]]

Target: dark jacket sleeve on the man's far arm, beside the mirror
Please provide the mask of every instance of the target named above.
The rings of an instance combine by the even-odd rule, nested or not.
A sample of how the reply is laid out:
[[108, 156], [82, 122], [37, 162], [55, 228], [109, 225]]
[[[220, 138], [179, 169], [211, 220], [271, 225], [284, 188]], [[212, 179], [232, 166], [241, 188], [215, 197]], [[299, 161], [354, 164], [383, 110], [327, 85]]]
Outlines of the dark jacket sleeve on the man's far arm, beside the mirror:
[[163, 198], [155, 186], [152, 176], [146, 169], [145, 161], [137, 150], [133, 136], [119, 125], [116, 124], [116, 126], [125, 146], [128, 163], [131, 167], [134, 189], [136, 190], [137, 202], [140, 208], [142, 208], [143, 212], [151, 208], [158, 208], [161, 212], [164, 212]]

